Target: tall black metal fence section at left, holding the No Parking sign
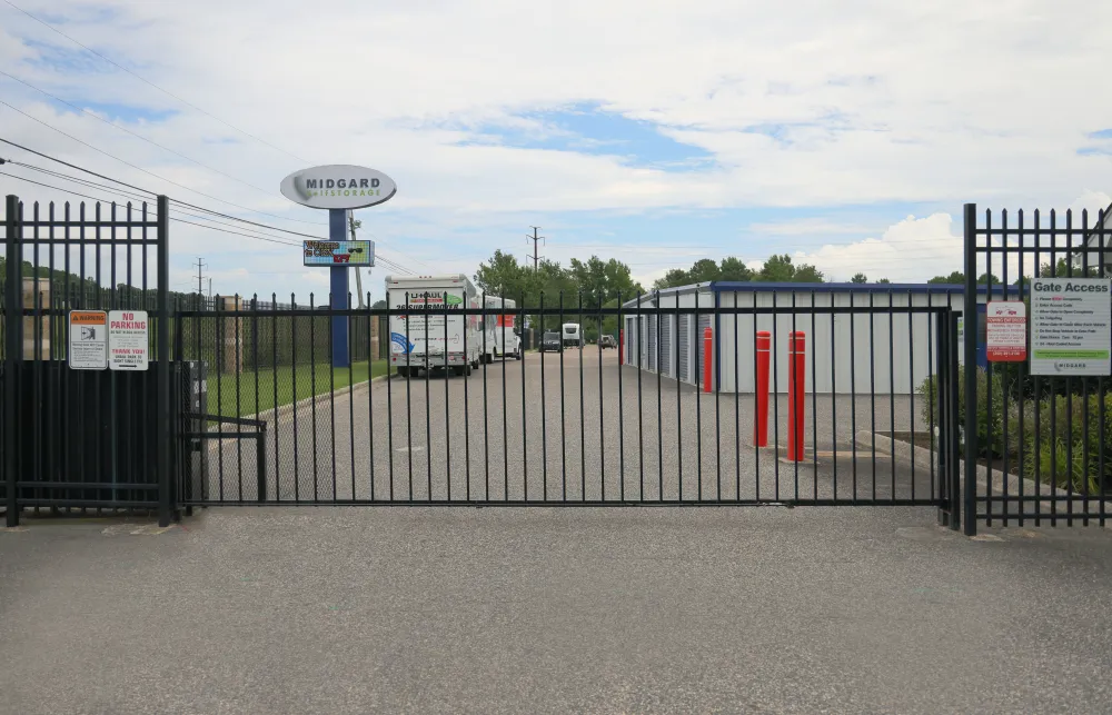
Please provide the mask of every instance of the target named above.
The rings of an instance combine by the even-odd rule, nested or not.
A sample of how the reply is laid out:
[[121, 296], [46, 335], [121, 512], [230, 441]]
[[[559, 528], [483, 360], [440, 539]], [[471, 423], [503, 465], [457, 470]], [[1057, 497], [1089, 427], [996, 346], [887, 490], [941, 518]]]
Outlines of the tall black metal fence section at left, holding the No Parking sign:
[[[76, 210], [4, 203], [3, 505], [171, 517], [167, 201]], [[151, 300], [153, 298], [153, 300]], [[67, 366], [70, 310], [149, 310], [150, 369]], [[103, 330], [103, 327], [100, 328]]]

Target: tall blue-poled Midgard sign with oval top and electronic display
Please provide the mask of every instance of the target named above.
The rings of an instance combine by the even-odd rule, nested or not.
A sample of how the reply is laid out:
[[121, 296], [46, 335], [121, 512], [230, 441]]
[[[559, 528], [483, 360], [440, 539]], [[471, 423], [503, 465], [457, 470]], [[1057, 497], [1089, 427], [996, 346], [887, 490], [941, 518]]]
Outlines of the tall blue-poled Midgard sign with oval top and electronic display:
[[[373, 241], [345, 240], [348, 211], [389, 201], [398, 192], [398, 186], [381, 171], [350, 165], [330, 165], [295, 171], [282, 179], [281, 192], [302, 206], [328, 210], [328, 241], [306, 241], [305, 265], [329, 267], [329, 307], [332, 310], [347, 310], [350, 290], [348, 268], [358, 270], [360, 267], [375, 265]], [[363, 244], [366, 246], [360, 246]], [[366, 260], [358, 260], [360, 255]], [[328, 258], [331, 260], [327, 260]], [[334, 368], [351, 365], [348, 355], [348, 324], [346, 316], [332, 316]]]

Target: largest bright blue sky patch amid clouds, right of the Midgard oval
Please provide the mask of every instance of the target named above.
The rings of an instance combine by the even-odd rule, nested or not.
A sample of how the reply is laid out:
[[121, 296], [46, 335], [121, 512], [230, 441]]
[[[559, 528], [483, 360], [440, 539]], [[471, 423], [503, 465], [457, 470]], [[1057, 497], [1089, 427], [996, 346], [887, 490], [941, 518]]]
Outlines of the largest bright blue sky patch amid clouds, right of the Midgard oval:
[[517, 115], [523, 126], [488, 123], [477, 127], [479, 137], [465, 145], [489, 145], [522, 149], [550, 149], [623, 157], [631, 166], [655, 168], [705, 167], [711, 152], [664, 136], [649, 121], [629, 119], [598, 105]]

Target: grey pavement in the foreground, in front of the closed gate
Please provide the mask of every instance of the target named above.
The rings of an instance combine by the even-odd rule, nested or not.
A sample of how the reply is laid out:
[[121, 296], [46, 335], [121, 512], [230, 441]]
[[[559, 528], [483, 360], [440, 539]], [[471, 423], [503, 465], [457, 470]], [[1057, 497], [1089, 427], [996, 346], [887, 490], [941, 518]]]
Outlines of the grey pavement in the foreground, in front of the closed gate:
[[[212, 508], [0, 533], [0, 712], [1100, 713], [1102, 529]], [[132, 534], [132, 530], [139, 532]]]

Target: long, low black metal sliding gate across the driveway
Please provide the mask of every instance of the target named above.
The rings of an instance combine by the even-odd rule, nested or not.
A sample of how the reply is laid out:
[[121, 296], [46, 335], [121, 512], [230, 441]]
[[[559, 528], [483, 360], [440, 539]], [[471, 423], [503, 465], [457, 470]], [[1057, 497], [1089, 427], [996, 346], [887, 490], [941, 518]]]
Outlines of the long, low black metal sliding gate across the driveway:
[[[933, 506], [956, 527], [957, 319], [950, 296], [924, 302], [887, 290], [851, 306], [814, 296], [807, 305], [758, 306], [734, 292], [729, 306], [674, 308], [545, 299], [512, 309], [518, 325], [528, 319], [544, 335], [579, 322], [593, 341], [405, 375], [393, 358], [359, 356], [378, 356], [375, 344], [384, 340], [406, 349], [410, 336], [399, 331], [418, 321], [423, 332], [445, 330], [448, 345], [449, 315], [470, 326], [455, 349], [486, 355], [483, 325], [502, 310], [336, 310], [312, 296], [306, 305], [217, 299], [215, 312], [179, 306], [175, 357], [208, 366], [208, 414], [255, 420], [267, 433], [244, 440], [241, 424], [211, 423], [198, 447], [206, 466], [182, 480], [180, 504]], [[351, 326], [345, 367], [334, 367], [330, 348], [337, 317]], [[681, 374], [673, 346], [683, 342], [669, 341], [671, 355], [662, 341], [642, 344], [662, 334], [659, 324], [684, 320], [717, 330], [713, 393], [665, 376]], [[375, 329], [384, 324], [395, 326], [390, 335]], [[654, 330], [638, 335], [636, 326], [647, 324]], [[754, 338], [765, 327], [780, 347], [762, 448], [753, 388], [742, 376], [754, 370]], [[808, 336], [805, 454], [788, 463], [793, 329]], [[599, 335], [620, 336], [624, 346], [606, 347]], [[689, 342], [702, 347], [702, 336]], [[644, 368], [622, 364], [648, 351], [654, 360]]]

